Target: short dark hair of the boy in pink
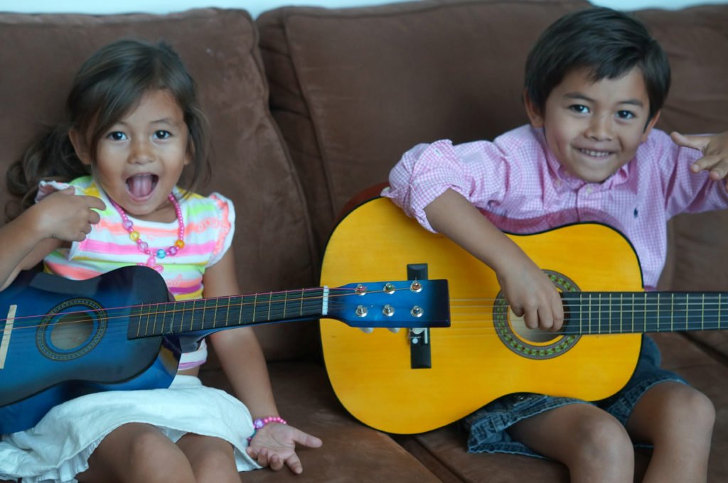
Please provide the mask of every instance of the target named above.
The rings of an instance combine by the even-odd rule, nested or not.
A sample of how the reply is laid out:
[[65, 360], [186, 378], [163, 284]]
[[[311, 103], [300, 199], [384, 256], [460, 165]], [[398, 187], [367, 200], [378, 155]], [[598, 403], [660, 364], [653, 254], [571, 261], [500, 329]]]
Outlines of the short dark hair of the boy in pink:
[[[526, 58], [526, 95], [543, 112], [566, 73], [587, 68], [593, 81], [618, 79], [639, 68], [649, 96], [649, 119], [670, 90], [670, 63], [643, 23], [604, 7], [570, 12], [541, 34]], [[648, 119], [648, 121], [649, 121]]]

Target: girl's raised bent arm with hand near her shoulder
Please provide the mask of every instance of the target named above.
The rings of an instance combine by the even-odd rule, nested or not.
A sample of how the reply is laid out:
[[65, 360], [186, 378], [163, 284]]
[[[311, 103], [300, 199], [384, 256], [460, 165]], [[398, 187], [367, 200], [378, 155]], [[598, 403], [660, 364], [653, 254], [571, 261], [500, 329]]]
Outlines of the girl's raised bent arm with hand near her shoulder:
[[0, 228], [0, 290], [21, 270], [36, 266], [64, 242], [82, 241], [104, 209], [92, 196], [74, 196], [74, 188], [52, 193]]

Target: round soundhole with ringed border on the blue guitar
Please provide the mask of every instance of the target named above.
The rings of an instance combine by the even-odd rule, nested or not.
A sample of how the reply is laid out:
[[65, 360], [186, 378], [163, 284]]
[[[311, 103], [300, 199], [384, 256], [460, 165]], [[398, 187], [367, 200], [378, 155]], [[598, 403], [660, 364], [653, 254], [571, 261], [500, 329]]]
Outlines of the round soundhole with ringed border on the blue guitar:
[[103, 339], [108, 317], [90, 298], [59, 303], [41, 320], [36, 332], [40, 354], [53, 361], [70, 361], [88, 354]]

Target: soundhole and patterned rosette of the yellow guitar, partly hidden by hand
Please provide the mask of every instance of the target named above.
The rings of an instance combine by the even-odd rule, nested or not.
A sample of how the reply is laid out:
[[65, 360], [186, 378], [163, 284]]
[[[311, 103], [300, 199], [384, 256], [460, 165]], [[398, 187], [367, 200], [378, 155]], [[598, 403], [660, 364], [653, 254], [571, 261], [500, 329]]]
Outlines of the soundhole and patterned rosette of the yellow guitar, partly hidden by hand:
[[[550, 270], [545, 270], [544, 273], [561, 292], [580, 292], [577, 284], [568, 277]], [[567, 315], [565, 324], [568, 320]], [[561, 356], [579, 341], [578, 335], [529, 329], [523, 319], [516, 317], [510, 310], [503, 292], [498, 293], [493, 306], [493, 323], [502, 343], [515, 354], [528, 359]]]

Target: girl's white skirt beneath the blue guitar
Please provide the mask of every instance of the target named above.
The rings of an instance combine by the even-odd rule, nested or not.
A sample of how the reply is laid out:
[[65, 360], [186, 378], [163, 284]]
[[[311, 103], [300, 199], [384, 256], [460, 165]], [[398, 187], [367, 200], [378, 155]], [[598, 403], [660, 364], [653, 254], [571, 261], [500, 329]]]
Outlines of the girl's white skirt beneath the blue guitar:
[[107, 434], [126, 423], [149, 423], [177, 442], [194, 433], [225, 439], [234, 447], [238, 471], [260, 468], [248, 456], [250, 411], [233, 396], [177, 375], [167, 389], [108, 391], [81, 396], [50, 410], [36, 426], [5, 434], [0, 442], [0, 479], [23, 483], [74, 483]]

